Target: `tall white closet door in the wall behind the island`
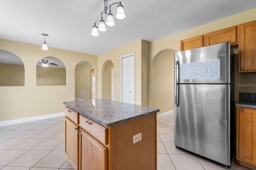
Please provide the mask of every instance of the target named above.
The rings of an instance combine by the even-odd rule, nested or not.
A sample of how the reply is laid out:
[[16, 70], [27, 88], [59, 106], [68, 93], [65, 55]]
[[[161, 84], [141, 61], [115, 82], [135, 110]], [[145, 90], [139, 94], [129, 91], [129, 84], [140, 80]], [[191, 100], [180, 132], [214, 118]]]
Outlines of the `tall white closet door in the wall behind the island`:
[[135, 104], [135, 76], [134, 76], [134, 53], [121, 57], [122, 60], [122, 102]]

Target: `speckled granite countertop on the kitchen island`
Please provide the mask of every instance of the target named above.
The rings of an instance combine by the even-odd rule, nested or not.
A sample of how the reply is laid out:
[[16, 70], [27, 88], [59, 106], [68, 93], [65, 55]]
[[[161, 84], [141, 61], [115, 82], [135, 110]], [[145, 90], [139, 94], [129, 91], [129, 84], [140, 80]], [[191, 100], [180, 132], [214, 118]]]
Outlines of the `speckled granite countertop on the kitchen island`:
[[107, 99], [95, 99], [95, 103], [93, 103], [92, 100], [81, 100], [63, 102], [63, 104], [105, 127], [118, 125], [160, 111], [152, 107]]

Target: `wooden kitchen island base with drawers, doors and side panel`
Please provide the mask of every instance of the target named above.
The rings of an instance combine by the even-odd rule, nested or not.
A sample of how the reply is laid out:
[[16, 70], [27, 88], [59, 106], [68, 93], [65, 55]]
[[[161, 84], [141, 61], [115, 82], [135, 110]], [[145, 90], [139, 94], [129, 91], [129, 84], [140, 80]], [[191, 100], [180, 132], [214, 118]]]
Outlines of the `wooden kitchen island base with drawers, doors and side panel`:
[[[68, 110], [65, 151], [75, 170], [157, 169], [156, 113], [104, 127]], [[69, 119], [71, 116], [75, 117], [73, 121]], [[79, 124], [74, 122], [76, 116]], [[134, 136], [139, 134], [142, 140], [135, 142]]]

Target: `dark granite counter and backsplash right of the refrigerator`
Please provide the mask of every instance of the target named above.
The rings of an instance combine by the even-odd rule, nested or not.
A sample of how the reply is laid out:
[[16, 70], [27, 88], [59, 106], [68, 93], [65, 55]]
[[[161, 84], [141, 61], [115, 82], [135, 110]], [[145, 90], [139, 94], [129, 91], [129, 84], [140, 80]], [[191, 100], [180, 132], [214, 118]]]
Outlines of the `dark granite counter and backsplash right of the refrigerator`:
[[239, 93], [239, 102], [236, 106], [256, 108], [256, 93]]

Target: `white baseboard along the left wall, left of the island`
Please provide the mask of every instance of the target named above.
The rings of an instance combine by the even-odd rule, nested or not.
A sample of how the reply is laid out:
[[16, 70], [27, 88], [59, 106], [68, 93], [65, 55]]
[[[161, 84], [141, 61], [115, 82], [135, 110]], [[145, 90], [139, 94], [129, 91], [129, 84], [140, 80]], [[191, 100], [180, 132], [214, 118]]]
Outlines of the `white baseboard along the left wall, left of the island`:
[[24, 122], [28, 122], [28, 121], [36, 121], [36, 120], [40, 120], [40, 119], [48, 119], [48, 118], [59, 117], [59, 116], [64, 116], [64, 115], [65, 115], [65, 112], [60, 112], [60, 113], [52, 113], [52, 114], [47, 114], [47, 115], [24, 117], [24, 118], [20, 118], [20, 119], [0, 121], [0, 126], [13, 125], [13, 124], [24, 123]]

